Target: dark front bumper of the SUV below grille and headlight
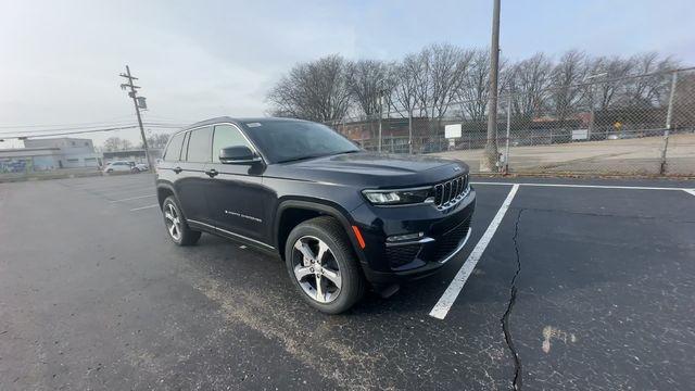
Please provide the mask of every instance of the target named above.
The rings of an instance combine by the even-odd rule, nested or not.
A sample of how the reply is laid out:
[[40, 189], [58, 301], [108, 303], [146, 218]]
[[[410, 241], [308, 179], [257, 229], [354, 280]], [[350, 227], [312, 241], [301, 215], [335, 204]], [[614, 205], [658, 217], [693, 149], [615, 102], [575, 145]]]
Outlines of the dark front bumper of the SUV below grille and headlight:
[[[447, 210], [433, 205], [374, 206], [352, 211], [365, 248], [357, 250], [366, 278], [372, 285], [390, 285], [431, 275], [453, 258], [470, 236], [476, 191]], [[422, 232], [419, 240], [388, 243], [387, 238]]]

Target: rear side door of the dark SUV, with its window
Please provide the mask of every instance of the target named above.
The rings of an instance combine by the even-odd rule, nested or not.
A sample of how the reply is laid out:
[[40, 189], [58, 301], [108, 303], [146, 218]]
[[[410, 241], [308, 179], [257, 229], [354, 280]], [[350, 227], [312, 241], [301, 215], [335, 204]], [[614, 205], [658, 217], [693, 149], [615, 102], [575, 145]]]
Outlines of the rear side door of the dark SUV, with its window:
[[207, 175], [205, 165], [212, 159], [211, 141], [213, 128], [205, 126], [190, 130], [184, 140], [179, 164], [174, 167], [178, 172], [174, 188], [187, 219], [212, 225], [205, 201]]

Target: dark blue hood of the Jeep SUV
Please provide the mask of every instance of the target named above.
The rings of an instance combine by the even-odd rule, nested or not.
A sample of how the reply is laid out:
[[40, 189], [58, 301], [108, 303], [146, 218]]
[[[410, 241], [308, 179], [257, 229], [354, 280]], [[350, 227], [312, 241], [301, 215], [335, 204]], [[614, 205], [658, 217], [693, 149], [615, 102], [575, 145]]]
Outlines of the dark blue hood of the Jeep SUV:
[[281, 176], [295, 179], [370, 187], [429, 185], [468, 172], [468, 166], [460, 161], [372, 152], [283, 163], [273, 165], [273, 168], [281, 171]]

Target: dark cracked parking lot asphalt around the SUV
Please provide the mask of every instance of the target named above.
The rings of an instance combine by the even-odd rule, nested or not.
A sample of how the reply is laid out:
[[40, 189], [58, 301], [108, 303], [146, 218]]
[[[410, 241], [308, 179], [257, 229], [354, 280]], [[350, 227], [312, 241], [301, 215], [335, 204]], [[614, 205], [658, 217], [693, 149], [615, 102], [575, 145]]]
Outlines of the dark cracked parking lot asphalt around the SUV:
[[0, 390], [692, 388], [693, 181], [475, 186], [440, 274], [328, 316], [278, 258], [175, 247], [151, 175], [0, 184]]

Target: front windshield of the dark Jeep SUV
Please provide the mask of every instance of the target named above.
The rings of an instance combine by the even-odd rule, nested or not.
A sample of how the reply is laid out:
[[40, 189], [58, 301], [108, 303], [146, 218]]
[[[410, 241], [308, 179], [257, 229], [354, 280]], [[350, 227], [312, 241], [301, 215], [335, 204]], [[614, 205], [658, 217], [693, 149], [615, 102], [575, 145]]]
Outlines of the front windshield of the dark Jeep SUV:
[[270, 163], [359, 151], [349, 139], [316, 123], [267, 121], [245, 125], [249, 137]]

